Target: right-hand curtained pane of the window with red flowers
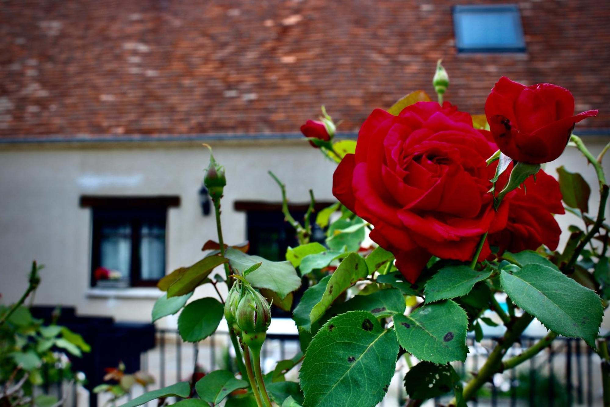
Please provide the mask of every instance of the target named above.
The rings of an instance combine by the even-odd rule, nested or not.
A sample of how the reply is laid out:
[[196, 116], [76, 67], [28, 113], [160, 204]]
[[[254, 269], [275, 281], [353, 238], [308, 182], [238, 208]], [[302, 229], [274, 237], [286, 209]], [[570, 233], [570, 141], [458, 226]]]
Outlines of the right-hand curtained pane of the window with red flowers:
[[159, 280], [165, 276], [165, 228], [143, 224], [140, 233], [140, 277], [142, 280]]

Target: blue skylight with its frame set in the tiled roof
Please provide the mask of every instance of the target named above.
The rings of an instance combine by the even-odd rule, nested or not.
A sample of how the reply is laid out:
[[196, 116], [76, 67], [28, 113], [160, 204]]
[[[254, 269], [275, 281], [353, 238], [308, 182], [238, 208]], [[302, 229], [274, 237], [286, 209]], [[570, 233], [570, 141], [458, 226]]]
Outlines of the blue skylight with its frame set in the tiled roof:
[[456, 5], [453, 26], [460, 53], [525, 51], [516, 5]]

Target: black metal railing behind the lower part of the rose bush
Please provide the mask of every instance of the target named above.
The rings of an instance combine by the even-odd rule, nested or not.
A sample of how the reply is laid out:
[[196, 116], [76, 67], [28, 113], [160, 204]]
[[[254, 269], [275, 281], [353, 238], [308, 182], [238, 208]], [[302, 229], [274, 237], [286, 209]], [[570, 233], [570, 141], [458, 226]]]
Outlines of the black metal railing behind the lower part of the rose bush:
[[[462, 380], [472, 377], [484, 364], [495, 343], [495, 337], [485, 337], [481, 343], [468, 337], [467, 360], [453, 363]], [[521, 353], [539, 337], [523, 336], [520, 343], [508, 351], [508, 356]], [[300, 350], [296, 335], [268, 335], [262, 349], [264, 370], [274, 369], [276, 362], [292, 358]], [[165, 387], [177, 381], [190, 380], [197, 366], [204, 372], [227, 368], [227, 354], [232, 347], [226, 332], [216, 332], [199, 343], [185, 343], [175, 329], [158, 329], [157, 346], [142, 354], [142, 370], [156, 378], [148, 390]], [[416, 362], [413, 359], [413, 362]], [[129, 367], [127, 367], [129, 369]], [[403, 387], [407, 371], [404, 357], [398, 359], [397, 372], [392, 380], [383, 407], [403, 406], [407, 395]], [[298, 369], [287, 375], [287, 380], [298, 381]], [[128, 398], [142, 394], [135, 389]], [[437, 398], [428, 405], [447, 403], [450, 397]], [[103, 405], [103, 400], [99, 400]], [[152, 406], [153, 404], [151, 404]], [[154, 404], [156, 405], [156, 404]], [[601, 405], [600, 359], [583, 340], [559, 337], [550, 347], [518, 367], [493, 376], [493, 380], [478, 392], [469, 406], [536, 406], [559, 407], [572, 405]]]

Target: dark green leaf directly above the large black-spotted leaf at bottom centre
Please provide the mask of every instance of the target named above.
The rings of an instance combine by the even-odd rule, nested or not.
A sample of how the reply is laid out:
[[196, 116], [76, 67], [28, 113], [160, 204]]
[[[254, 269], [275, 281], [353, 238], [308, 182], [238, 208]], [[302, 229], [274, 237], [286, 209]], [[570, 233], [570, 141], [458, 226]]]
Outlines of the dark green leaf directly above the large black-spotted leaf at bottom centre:
[[389, 317], [393, 314], [403, 314], [406, 304], [403, 293], [398, 288], [389, 288], [369, 295], [356, 295], [345, 303], [332, 306], [326, 316], [334, 317], [349, 311], [368, 311], [379, 317]]

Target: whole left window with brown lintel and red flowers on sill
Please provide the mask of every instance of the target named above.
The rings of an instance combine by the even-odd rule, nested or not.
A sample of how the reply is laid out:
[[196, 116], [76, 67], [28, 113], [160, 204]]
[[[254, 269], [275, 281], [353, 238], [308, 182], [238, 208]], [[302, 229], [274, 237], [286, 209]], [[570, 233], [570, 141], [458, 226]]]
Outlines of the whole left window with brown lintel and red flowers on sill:
[[176, 198], [81, 198], [91, 206], [92, 287], [154, 286], [165, 276], [167, 208]]

